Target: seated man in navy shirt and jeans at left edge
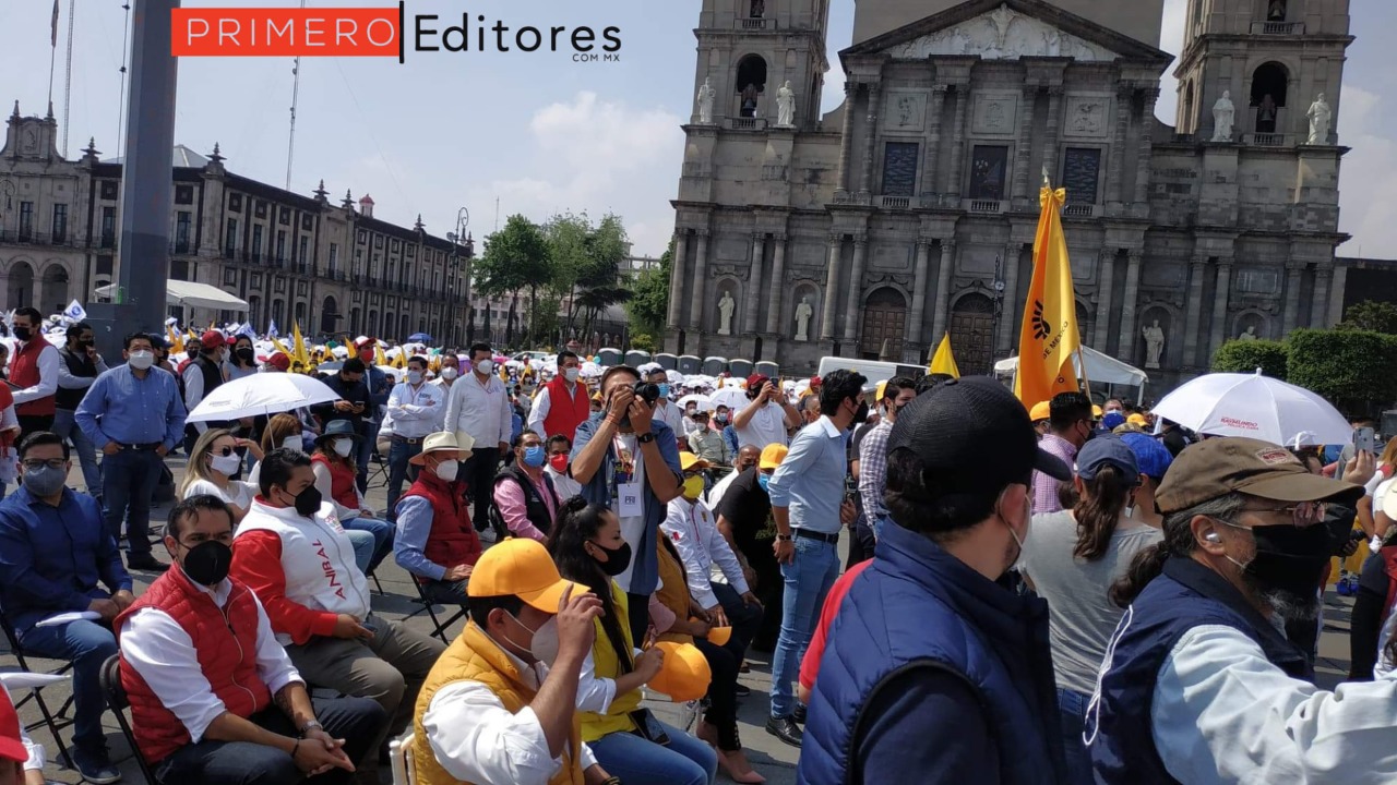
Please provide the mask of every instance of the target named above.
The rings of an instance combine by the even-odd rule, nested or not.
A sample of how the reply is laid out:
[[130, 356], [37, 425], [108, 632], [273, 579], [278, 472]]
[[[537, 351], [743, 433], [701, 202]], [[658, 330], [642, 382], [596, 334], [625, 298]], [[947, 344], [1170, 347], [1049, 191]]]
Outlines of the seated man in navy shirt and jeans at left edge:
[[[116, 654], [112, 620], [136, 596], [96, 500], [64, 487], [70, 468], [57, 434], [31, 433], [20, 444], [21, 486], [0, 503], [0, 608], [25, 652], [73, 662], [73, 763], [88, 782], [116, 782], [98, 675]], [[77, 610], [101, 619], [36, 626]]]

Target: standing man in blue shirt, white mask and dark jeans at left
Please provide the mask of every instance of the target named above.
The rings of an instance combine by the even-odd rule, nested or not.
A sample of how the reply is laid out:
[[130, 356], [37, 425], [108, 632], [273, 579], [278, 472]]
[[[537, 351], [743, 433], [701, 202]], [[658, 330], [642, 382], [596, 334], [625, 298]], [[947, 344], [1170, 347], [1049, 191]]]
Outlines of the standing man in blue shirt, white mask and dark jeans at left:
[[151, 497], [165, 468], [165, 455], [184, 436], [184, 401], [175, 376], [155, 365], [145, 332], [126, 337], [126, 365], [96, 377], [78, 404], [78, 427], [102, 446], [102, 507], [112, 539], [122, 539], [126, 518], [126, 566], [133, 570], [169, 567], [151, 555]]

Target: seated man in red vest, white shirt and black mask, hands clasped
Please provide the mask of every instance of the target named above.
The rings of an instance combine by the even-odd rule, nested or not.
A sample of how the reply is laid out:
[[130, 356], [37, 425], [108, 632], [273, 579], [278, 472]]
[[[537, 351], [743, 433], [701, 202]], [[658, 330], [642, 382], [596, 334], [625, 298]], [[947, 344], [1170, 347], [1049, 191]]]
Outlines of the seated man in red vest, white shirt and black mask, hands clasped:
[[228, 577], [233, 517], [222, 500], [180, 501], [165, 532], [177, 568], [116, 619], [136, 744], [155, 777], [291, 785], [323, 772], [316, 782], [349, 782], [387, 712], [370, 698], [312, 705], [261, 602]]

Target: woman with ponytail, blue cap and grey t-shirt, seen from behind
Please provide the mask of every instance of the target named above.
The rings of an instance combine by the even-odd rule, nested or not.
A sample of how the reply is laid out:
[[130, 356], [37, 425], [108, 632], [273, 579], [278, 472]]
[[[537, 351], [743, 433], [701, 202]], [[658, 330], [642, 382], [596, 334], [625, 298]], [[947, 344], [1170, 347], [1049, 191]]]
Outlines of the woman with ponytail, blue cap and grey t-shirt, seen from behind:
[[1162, 539], [1160, 529], [1134, 517], [1140, 467], [1116, 436], [1098, 436], [1077, 453], [1077, 503], [1070, 510], [1034, 515], [1020, 571], [1048, 601], [1048, 633], [1058, 707], [1073, 784], [1092, 782], [1091, 757], [1081, 742], [1087, 703], [1123, 610], [1111, 587], [1136, 553]]

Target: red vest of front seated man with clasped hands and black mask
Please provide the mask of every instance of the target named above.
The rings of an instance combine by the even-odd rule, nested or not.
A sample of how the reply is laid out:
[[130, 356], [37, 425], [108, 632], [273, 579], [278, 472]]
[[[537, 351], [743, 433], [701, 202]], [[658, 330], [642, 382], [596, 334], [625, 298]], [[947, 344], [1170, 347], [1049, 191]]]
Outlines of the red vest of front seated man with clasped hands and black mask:
[[[247, 718], [271, 704], [271, 691], [257, 675], [257, 602], [246, 585], [233, 581], [228, 603], [219, 609], [208, 592], [173, 567], [116, 617], [117, 636], [141, 608], [158, 608], [184, 629], [194, 641], [200, 670], [228, 711]], [[184, 724], [161, 704], [124, 658], [122, 687], [131, 701], [131, 726], [145, 760], [162, 761], [190, 743]]]

